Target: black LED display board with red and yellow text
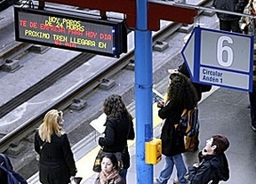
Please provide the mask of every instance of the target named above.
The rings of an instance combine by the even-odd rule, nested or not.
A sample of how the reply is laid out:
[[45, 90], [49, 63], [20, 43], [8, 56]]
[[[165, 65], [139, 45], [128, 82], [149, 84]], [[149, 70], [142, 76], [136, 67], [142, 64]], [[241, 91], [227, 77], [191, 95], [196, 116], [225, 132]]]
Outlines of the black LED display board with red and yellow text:
[[15, 7], [14, 13], [17, 41], [113, 57], [127, 52], [124, 20], [99, 20], [20, 7]]

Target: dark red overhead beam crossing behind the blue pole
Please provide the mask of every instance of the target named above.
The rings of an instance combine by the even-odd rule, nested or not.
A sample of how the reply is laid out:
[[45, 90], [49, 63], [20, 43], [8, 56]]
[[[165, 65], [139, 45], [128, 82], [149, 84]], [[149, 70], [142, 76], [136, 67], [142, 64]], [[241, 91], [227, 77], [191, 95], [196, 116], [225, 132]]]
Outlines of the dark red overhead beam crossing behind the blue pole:
[[[40, 0], [42, 2], [42, 0]], [[39, 2], [40, 2], [39, 1]], [[43, 0], [53, 4], [67, 4], [79, 8], [99, 10], [101, 12], [119, 12], [126, 15], [129, 28], [136, 28], [136, 0]], [[148, 2], [148, 30], [160, 29], [160, 20], [170, 20], [184, 24], [194, 22], [197, 10], [173, 4], [161, 4], [157, 1]]]

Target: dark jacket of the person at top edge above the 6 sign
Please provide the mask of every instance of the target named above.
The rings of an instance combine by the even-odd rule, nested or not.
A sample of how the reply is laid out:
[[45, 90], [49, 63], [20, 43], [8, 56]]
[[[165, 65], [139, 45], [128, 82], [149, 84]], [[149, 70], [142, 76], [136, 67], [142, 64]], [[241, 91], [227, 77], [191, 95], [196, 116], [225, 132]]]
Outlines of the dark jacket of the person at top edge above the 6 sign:
[[[213, 6], [216, 9], [228, 12], [244, 12], [245, 5], [248, 0], [213, 0]], [[240, 20], [241, 16], [217, 12], [220, 20]]]

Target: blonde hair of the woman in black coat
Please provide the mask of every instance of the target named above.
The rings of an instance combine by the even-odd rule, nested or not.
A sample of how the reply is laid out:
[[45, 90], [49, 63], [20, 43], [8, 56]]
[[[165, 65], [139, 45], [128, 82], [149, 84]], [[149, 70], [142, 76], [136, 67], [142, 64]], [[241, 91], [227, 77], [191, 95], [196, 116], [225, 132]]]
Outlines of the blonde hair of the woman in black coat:
[[46, 113], [43, 124], [40, 124], [38, 128], [41, 140], [51, 143], [53, 133], [57, 136], [61, 136], [65, 133], [60, 126], [62, 116], [63, 112], [56, 109], [52, 109]]

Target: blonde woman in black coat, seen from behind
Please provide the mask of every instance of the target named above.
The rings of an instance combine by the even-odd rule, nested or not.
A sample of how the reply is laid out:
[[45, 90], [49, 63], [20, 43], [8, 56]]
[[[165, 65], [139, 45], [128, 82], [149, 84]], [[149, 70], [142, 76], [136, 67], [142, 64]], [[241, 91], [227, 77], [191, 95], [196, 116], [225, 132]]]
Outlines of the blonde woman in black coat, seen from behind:
[[76, 164], [68, 135], [64, 132], [62, 111], [52, 109], [44, 116], [35, 134], [39, 154], [39, 180], [43, 184], [68, 184], [76, 176]]

